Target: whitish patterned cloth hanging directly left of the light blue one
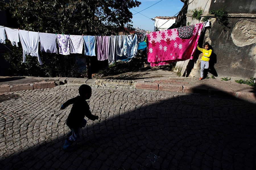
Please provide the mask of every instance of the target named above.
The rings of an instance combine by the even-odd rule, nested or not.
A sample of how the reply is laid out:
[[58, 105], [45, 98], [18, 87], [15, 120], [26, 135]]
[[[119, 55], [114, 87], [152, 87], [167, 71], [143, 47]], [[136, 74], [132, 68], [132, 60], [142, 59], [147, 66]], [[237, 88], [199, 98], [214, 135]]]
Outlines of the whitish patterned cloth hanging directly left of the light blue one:
[[82, 54], [83, 52], [83, 36], [82, 35], [70, 35], [70, 51], [71, 53]]

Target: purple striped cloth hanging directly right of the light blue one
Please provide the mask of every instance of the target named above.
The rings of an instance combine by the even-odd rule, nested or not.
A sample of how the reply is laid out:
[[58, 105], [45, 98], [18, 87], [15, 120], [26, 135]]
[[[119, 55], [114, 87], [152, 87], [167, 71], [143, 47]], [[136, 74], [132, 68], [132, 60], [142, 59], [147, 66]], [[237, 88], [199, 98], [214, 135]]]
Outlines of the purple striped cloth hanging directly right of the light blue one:
[[108, 60], [108, 39], [109, 36], [97, 37], [97, 54], [99, 61]]

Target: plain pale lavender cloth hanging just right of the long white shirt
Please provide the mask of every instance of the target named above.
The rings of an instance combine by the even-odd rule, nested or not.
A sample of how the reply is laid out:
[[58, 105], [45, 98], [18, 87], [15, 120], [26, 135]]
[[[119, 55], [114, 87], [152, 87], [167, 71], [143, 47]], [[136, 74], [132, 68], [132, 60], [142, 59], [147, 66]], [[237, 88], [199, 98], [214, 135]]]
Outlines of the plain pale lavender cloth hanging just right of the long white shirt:
[[39, 33], [41, 52], [57, 53], [56, 34]]

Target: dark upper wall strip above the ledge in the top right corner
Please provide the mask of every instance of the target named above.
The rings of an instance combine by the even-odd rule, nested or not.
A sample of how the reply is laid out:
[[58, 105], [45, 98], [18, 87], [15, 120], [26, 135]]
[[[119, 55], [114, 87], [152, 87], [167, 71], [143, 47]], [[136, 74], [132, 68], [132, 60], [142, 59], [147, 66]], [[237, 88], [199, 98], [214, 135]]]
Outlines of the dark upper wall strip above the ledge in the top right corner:
[[256, 0], [211, 0], [209, 11], [224, 7], [229, 14], [256, 14]]

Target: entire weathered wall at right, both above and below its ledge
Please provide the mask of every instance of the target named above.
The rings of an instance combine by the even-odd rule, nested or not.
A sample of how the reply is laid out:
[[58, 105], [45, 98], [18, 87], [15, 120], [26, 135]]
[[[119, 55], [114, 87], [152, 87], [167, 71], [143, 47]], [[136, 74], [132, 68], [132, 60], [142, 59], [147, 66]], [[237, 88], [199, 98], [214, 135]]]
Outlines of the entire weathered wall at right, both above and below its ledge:
[[[200, 2], [202, 2], [201, 6]], [[226, 28], [226, 30], [223, 30], [215, 18], [211, 18], [211, 27], [206, 29], [199, 41], [201, 46], [204, 42], [209, 42], [214, 51], [211, 56], [211, 69], [208, 76], [228, 76], [242, 79], [256, 77], [256, 19], [252, 15], [252, 17], [248, 17], [248, 15], [243, 17], [243, 14], [255, 14], [255, 3], [256, 0], [238, 0], [236, 3], [230, 3], [227, 0], [199, 0], [191, 3], [191, 6], [188, 7], [187, 14], [189, 14], [189, 10], [203, 9], [205, 6], [208, 7], [205, 9], [206, 11], [227, 6], [226, 11], [229, 14], [242, 14], [240, 17], [228, 18], [230, 28]], [[199, 22], [192, 20], [192, 17], [187, 15], [187, 22], [189, 21], [192, 21], [192, 24]], [[181, 75], [183, 76], [200, 77], [200, 65], [201, 54], [197, 52], [194, 60], [177, 62], [176, 68], [182, 68]]]

